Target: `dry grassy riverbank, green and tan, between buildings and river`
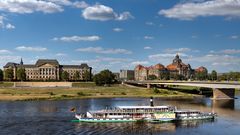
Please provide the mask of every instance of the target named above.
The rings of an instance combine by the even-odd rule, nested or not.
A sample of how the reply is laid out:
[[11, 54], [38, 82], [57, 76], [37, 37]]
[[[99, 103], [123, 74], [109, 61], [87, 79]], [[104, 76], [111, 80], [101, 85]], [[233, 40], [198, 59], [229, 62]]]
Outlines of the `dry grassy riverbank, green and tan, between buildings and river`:
[[74, 83], [72, 88], [13, 88], [1, 87], [0, 100], [59, 100], [108, 97], [193, 97], [175, 90], [146, 89], [113, 85], [95, 86], [93, 83]]

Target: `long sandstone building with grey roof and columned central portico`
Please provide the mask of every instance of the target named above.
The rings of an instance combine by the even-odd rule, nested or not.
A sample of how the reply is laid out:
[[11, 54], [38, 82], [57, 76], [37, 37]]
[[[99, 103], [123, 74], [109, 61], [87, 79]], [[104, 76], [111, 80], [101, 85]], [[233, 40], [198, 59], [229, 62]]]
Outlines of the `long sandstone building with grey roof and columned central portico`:
[[[84, 79], [84, 73], [88, 71], [90, 79], [92, 68], [86, 63], [81, 65], [60, 65], [55, 59], [39, 59], [34, 65], [23, 64], [21, 62], [13, 63], [8, 62], [4, 67], [4, 71], [7, 69], [13, 70], [13, 80], [17, 80], [17, 70], [20, 68], [25, 69], [27, 80], [61, 80], [61, 73], [66, 71], [69, 74], [69, 80], [75, 80], [76, 73], [79, 73], [78, 80]], [[4, 75], [6, 79], [6, 76]]]

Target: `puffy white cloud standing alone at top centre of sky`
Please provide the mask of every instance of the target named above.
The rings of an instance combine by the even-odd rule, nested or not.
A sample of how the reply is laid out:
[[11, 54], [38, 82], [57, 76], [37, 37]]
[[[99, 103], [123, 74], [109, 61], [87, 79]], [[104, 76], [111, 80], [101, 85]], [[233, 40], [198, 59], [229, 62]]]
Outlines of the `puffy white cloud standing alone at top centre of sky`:
[[133, 18], [130, 12], [123, 12], [117, 14], [111, 7], [96, 4], [94, 6], [89, 6], [82, 11], [83, 18], [87, 20], [98, 20], [98, 21], [108, 21], [108, 20], [127, 20]]

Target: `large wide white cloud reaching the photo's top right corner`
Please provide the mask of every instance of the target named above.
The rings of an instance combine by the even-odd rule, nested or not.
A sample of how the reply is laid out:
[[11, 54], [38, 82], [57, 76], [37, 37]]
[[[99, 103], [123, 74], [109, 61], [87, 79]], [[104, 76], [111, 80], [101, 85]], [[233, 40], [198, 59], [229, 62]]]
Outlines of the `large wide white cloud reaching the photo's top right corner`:
[[192, 20], [199, 16], [240, 17], [240, 0], [190, 1], [160, 10], [159, 14], [180, 20]]

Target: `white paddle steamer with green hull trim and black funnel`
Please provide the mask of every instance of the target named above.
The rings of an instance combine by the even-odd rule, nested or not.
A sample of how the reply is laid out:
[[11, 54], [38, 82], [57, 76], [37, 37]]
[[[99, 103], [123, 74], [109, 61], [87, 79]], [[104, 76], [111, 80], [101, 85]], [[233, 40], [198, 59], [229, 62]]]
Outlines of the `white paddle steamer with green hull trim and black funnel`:
[[118, 106], [98, 111], [75, 114], [73, 122], [171, 122], [176, 120], [214, 119], [214, 113], [192, 110], [177, 110], [173, 106]]

